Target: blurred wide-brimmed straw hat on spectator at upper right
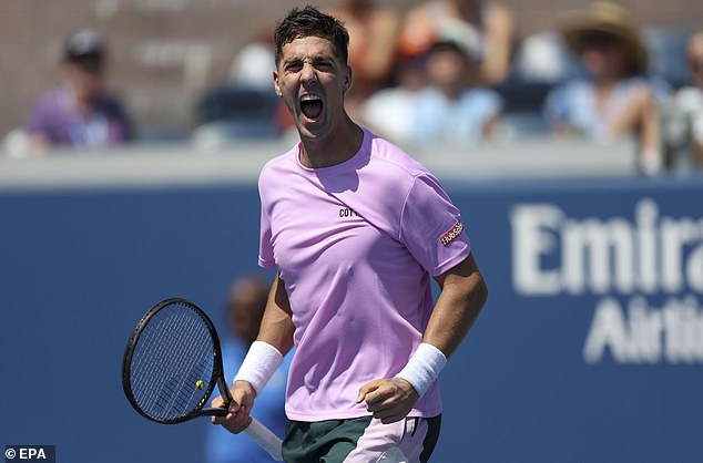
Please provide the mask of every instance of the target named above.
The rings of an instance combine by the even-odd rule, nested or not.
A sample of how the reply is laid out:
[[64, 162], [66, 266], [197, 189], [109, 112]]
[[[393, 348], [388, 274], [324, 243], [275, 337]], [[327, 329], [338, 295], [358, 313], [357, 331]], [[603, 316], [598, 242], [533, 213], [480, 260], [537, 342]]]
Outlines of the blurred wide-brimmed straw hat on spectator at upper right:
[[640, 29], [619, 4], [597, 1], [585, 10], [566, 13], [561, 17], [559, 30], [569, 48], [578, 55], [585, 48], [590, 34], [600, 32], [617, 35], [630, 48], [631, 62], [628, 70], [636, 74], [646, 69], [646, 49]]

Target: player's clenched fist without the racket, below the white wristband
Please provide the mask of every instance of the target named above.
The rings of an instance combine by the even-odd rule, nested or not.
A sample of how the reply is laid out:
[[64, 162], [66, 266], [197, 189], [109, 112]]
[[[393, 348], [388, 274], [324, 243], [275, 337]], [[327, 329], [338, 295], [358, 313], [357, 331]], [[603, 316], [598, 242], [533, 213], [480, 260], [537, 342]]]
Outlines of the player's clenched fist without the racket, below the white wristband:
[[419, 399], [412, 385], [403, 378], [373, 380], [359, 389], [356, 403], [366, 401], [366, 410], [381, 423], [395, 423], [410, 413]]

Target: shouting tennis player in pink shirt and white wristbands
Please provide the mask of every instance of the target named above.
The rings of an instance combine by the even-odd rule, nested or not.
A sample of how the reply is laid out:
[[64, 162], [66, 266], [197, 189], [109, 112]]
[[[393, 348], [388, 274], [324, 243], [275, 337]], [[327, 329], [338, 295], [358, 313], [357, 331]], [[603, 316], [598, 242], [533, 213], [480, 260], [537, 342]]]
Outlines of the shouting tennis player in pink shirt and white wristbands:
[[312, 7], [276, 28], [274, 88], [300, 143], [259, 177], [259, 265], [278, 275], [232, 387], [236, 403], [213, 422], [245, 429], [295, 344], [287, 462], [426, 462], [439, 433], [437, 377], [487, 290], [437, 179], [345, 112], [347, 44], [344, 27]]

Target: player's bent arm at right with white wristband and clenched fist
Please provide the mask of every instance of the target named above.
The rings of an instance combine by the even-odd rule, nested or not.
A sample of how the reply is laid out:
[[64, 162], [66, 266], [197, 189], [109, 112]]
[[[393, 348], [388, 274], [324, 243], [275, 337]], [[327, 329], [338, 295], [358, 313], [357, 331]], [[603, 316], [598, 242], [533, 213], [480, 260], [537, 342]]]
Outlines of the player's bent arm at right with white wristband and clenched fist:
[[[411, 375], [417, 377], [414, 379], [420, 383], [434, 382], [444, 367], [441, 362], [446, 362], [459, 347], [488, 297], [486, 282], [471, 254], [435, 279], [441, 292], [422, 337], [426, 346], [420, 344], [404, 369], [404, 372], [409, 370]], [[408, 380], [401, 378], [404, 372], [396, 378], [376, 379], [364, 384], [357, 402], [366, 401], [367, 410], [384, 423], [404, 419], [425, 392], [420, 390], [418, 393]]]

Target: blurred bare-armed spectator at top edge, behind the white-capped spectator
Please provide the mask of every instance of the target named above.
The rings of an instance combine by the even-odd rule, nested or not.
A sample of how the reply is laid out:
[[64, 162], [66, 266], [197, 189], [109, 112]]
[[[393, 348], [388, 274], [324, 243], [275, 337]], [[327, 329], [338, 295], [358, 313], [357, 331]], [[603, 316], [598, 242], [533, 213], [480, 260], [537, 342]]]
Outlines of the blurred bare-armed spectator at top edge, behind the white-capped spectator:
[[418, 54], [437, 41], [461, 43], [479, 63], [478, 83], [493, 85], [510, 72], [514, 35], [514, 14], [498, 1], [426, 0], [408, 11], [399, 45]]

